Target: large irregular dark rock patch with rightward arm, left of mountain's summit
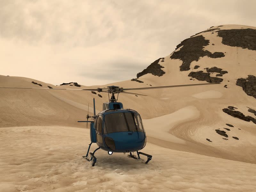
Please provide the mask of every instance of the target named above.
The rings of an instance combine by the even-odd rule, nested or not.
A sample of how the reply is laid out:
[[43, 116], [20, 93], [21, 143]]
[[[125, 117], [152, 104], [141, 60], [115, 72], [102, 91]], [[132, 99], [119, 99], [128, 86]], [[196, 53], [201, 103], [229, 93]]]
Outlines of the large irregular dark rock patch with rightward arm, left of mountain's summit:
[[211, 58], [224, 57], [224, 53], [214, 52], [211, 53], [207, 50], [203, 50], [204, 46], [209, 44], [209, 40], [204, 39], [202, 35], [191, 37], [185, 39], [180, 44], [177, 45], [177, 50], [179, 47], [179, 51], [173, 52], [171, 55], [171, 59], [180, 59], [182, 60], [182, 65], [180, 66], [180, 71], [188, 71], [190, 69], [190, 63], [192, 61], [198, 61], [200, 57], [208, 56]]

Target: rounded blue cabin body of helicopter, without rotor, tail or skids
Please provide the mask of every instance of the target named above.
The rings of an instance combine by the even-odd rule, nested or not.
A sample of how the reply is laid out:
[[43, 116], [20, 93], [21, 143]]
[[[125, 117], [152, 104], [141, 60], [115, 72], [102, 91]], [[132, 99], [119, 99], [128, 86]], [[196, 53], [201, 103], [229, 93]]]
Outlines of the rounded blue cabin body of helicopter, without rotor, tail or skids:
[[146, 133], [138, 112], [131, 109], [101, 111], [90, 126], [91, 142], [111, 152], [138, 151], [146, 145]]

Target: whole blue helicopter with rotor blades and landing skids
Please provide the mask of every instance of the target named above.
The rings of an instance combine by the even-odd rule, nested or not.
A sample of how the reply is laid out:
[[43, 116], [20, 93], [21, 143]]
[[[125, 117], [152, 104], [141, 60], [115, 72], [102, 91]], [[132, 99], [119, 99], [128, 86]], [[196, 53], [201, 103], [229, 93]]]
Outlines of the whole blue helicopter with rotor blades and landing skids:
[[[138, 93], [126, 92], [126, 90], [148, 90], [148, 89], [161, 89], [171, 87], [185, 87], [185, 86], [196, 86], [196, 85], [209, 85], [209, 84], [220, 84], [220, 83], [204, 83], [204, 84], [186, 84], [186, 85], [170, 85], [170, 86], [158, 86], [158, 87], [142, 87], [142, 88], [123, 88], [118, 86], [108, 86], [107, 88], [97, 89], [58, 89], [58, 88], [30, 88], [30, 87], [0, 87], [0, 88], [12, 88], [12, 89], [47, 89], [47, 90], [80, 90], [80, 91], [97, 91], [97, 92], [108, 92], [109, 102], [103, 103], [103, 108], [100, 113], [95, 113], [95, 99], [93, 98], [93, 116], [89, 116], [89, 104], [86, 121], [77, 122], [88, 122], [90, 123], [90, 139], [87, 153], [83, 158], [88, 161], [92, 161], [92, 166], [95, 165], [97, 158], [95, 152], [99, 149], [108, 152], [108, 155], [115, 153], [129, 153], [129, 157], [134, 159], [140, 159], [140, 155], [147, 156], [145, 164], [152, 159], [152, 155], [148, 155], [143, 152], [139, 152], [146, 146], [147, 137], [146, 132], [142, 124], [140, 114], [133, 110], [124, 108], [123, 103], [117, 102], [119, 93], [133, 94], [147, 96]], [[111, 94], [111, 97], [109, 97]], [[117, 98], [115, 97], [117, 94]], [[90, 120], [89, 120], [90, 118]], [[90, 152], [92, 143], [96, 143], [98, 148], [93, 152]], [[132, 154], [137, 152], [137, 156]], [[88, 157], [90, 155], [90, 157]]]

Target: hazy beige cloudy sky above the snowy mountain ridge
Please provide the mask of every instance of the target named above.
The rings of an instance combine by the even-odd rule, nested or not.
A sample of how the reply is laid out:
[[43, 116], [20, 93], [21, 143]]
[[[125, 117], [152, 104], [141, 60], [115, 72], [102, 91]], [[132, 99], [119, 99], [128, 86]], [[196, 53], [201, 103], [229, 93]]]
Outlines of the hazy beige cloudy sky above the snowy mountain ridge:
[[0, 75], [51, 84], [135, 78], [211, 26], [256, 26], [247, 0], [1, 0]]

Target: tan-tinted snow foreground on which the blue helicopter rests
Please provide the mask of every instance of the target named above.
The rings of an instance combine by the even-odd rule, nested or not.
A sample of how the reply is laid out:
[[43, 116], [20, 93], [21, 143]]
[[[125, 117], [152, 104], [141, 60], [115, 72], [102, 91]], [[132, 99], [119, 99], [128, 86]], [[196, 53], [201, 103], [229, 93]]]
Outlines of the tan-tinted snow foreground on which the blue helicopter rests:
[[[124, 154], [97, 151], [82, 158], [89, 130], [64, 126], [0, 129], [0, 191], [132, 192], [255, 191], [256, 165], [162, 148], [150, 143], [148, 164]], [[96, 148], [93, 144], [92, 150]]]

